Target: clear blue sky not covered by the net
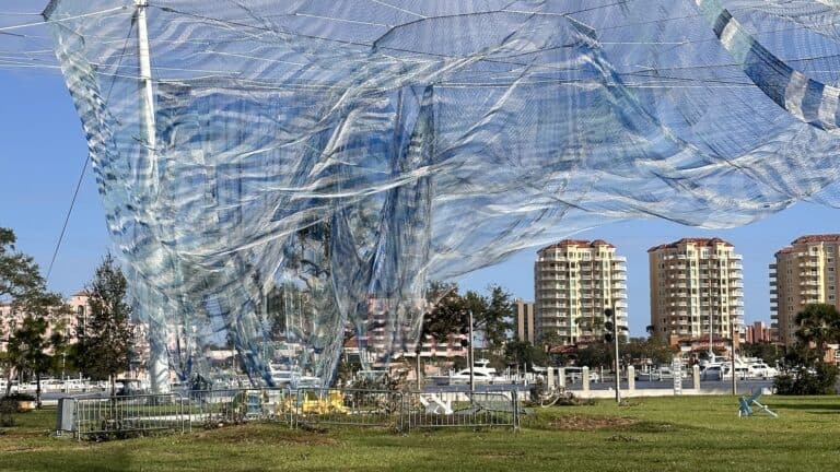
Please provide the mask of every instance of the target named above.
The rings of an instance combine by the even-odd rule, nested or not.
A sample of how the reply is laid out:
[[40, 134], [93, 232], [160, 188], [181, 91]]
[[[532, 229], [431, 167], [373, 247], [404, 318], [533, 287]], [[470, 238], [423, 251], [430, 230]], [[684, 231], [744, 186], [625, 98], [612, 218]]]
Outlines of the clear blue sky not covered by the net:
[[[27, 10], [38, 9], [30, 4]], [[16, 44], [0, 40], [0, 54]], [[13, 228], [19, 248], [33, 255], [46, 272], [86, 158], [86, 144], [56, 69], [0, 67], [0, 226]], [[642, 335], [650, 323], [646, 250], [651, 246], [686, 236], [720, 236], [734, 244], [736, 252], [744, 256], [745, 318], [748, 322], [769, 322], [768, 264], [773, 253], [800, 235], [838, 232], [837, 217], [836, 209], [800, 203], [727, 231], [704, 231], [668, 221], [628, 221], [575, 237], [606, 239], [627, 257], [630, 329], [631, 334]], [[102, 204], [88, 168], [49, 279], [50, 288], [70, 295], [83, 287], [108, 248]], [[535, 251], [523, 251], [502, 264], [469, 274], [462, 286], [483, 291], [498, 283], [515, 296], [533, 299]]]

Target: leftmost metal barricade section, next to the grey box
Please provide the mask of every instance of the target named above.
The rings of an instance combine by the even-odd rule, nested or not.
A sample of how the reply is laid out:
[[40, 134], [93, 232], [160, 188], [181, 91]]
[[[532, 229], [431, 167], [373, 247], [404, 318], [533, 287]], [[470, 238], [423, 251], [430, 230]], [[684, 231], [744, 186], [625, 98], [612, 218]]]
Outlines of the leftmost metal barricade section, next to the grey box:
[[189, 429], [185, 401], [177, 393], [75, 400], [75, 434], [85, 436], [126, 435], [152, 430]]

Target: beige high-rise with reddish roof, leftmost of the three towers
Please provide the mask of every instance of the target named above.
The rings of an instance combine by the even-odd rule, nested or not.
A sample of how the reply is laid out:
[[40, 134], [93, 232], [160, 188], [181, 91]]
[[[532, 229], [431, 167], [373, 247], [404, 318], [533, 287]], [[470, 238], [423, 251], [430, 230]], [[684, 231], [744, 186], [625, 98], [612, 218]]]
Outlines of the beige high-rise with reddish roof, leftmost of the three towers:
[[600, 239], [561, 240], [537, 251], [534, 294], [538, 342], [547, 335], [563, 344], [599, 340], [606, 308], [627, 328], [627, 259]]

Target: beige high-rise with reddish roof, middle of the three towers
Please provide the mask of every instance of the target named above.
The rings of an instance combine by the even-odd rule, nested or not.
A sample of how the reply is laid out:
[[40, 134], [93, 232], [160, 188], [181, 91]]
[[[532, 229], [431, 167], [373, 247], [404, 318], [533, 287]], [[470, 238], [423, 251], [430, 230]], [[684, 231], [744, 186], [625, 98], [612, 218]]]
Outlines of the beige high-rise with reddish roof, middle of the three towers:
[[648, 250], [651, 328], [655, 338], [715, 343], [740, 341], [744, 323], [742, 257], [720, 238], [682, 238]]

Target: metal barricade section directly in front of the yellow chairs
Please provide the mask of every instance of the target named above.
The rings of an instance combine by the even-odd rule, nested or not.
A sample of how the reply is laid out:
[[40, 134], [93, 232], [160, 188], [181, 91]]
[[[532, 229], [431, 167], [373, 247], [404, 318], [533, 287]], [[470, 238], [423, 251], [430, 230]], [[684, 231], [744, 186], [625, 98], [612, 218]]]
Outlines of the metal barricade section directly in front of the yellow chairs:
[[401, 429], [404, 393], [395, 390], [301, 388], [291, 392], [294, 424]]

